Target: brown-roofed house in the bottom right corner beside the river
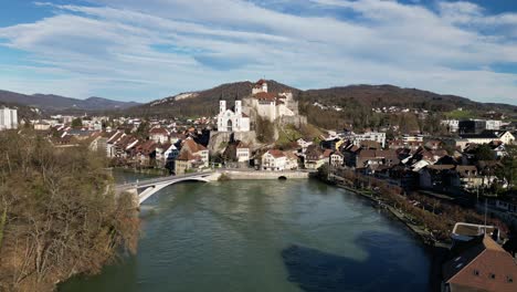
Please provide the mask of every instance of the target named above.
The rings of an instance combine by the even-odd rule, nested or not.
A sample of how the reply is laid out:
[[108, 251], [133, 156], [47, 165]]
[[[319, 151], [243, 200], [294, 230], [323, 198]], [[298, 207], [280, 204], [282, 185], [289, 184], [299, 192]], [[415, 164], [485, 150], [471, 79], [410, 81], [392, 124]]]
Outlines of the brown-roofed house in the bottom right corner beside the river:
[[488, 236], [465, 243], [442, 267], [442, 291], [517, 291], [517, 264]]

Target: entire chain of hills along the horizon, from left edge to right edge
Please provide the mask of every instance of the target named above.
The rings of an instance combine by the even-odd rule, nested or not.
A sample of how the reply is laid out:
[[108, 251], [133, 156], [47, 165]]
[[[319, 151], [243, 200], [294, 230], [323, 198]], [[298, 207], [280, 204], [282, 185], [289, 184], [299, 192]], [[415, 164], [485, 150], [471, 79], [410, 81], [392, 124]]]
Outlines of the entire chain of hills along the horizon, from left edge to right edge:
[[[299, 101], [302, 113], [315, 114], [310, 111], [314, 103], [327, 106], [339, 106], [349, 112], [365, 113], [373, 107], [399, 106], [423, 108], [433, 112], [449, 112], [462, 107], [472, 111], [499, 111], [507, 114], [517, 113], [517, 106], [495, 103], [478, 103], [455, 95], [436, 94], [416, 88], [402, 88], [393, 85], [349, 85], [323, 90], [302, 91], [276, 81], [267, 81], [270, 92], [292, 91]], [[117, 102], [102, 97], [77, 100], [52, 94], [25, 95], [0, 91], [0, 105], [19, 104], [36, 107], [43, 112], [52, 113], [82, 113], [82, 112], [112, 112], [114, 114], [135, 115], [144, 117], [194, 117], [213, 116], [219, 111], [219, 100], [231, 101], [251, 94], [254, 83], [244, 81], [226, 83], [210, 90], [194, 91], [168, 96], [146, 104], [135, 102]], [[314, 107], [314, 106], [313, 106]], [[344, 113], [317, 113], [318, 115], [333, 115], [336, 118], [347, 118]], [[310, 117], [309, 117], [310, 119]]]

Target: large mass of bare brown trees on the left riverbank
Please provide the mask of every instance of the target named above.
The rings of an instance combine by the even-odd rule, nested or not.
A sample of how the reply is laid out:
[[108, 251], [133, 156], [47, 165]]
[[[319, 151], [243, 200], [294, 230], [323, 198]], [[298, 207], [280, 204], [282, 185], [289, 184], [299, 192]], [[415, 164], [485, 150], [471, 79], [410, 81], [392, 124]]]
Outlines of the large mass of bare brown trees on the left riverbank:
[[135, 250], [138, 217], [116, 197], [101, 156], [54, 148], [33, 133], [0, 133], [0, 291], [50, 291], [95, 273], [122, 246]]

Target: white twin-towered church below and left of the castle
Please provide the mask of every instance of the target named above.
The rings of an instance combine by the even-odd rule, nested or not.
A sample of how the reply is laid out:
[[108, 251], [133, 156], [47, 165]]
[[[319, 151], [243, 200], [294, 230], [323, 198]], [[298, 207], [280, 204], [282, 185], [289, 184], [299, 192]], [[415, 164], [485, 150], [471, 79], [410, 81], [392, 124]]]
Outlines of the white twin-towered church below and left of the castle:
[[242, 102], [236, 100], [233, 108], [226, 101], [219, 101], [218, 132], [249, 132], [250, 117], [242, 112]]

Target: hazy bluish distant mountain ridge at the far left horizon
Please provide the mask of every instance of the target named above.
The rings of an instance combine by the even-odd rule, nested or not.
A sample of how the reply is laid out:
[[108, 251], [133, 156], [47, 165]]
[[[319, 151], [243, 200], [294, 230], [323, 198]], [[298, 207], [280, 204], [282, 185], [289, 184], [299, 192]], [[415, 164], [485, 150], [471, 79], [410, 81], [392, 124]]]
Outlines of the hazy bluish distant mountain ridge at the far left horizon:
[[53, 94], [27, 95], [8, 91], [0, 91], [0, 104], [18, 104], [51, 113], [62, 111], [113, 111], [139, 105], [135, 102], [118, 102], [102, 97], [78, 100]]

